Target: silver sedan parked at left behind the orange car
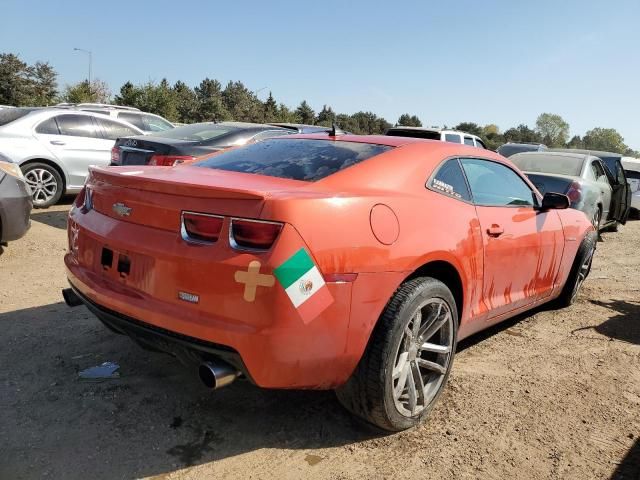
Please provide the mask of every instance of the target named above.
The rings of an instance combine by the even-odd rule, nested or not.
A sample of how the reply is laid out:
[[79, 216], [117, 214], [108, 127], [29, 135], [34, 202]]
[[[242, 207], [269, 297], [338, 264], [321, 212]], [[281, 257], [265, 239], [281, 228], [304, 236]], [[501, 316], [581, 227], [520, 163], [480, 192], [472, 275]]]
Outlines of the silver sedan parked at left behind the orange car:
[[0, 110], [0, 154], [18, 164], [33, 206], [46, 208], [82, 189], [89, 165], [109, 164], [118, 137], [142, 131], [115, 118], [60, 108]]

